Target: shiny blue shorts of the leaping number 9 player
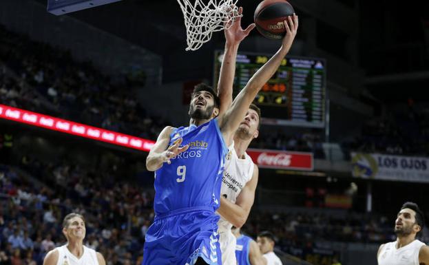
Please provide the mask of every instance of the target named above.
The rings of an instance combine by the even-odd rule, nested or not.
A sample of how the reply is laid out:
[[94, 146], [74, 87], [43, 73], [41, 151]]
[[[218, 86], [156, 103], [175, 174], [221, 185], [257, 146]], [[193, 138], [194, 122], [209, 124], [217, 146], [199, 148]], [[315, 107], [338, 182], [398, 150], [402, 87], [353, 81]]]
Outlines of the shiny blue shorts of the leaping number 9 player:
[[193, 265], [198, 257], [209, 265], [222, 265], [218, 220], [212, 207], [156, 216], [146, 233], [142, 265]]

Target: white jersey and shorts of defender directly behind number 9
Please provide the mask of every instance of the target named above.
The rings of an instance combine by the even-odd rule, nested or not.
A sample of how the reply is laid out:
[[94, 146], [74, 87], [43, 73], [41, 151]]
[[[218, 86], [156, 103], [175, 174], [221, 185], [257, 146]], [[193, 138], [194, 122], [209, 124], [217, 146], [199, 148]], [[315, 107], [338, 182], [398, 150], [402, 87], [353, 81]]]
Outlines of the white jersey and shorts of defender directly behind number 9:
[[[229, 147], [225, 158], [225, 170], [222, 179], [220, 195], [235, 203], [240, 191], [246, 186], [253, 176], [253, 161], [247, 153], [244, 158], [238, 158], [234, 144]], [[220, 250], [222, 251], [222, 264], [237, 264], [236, 237], [233, 235], [232, 224], [220, 216], [218, 222]]]

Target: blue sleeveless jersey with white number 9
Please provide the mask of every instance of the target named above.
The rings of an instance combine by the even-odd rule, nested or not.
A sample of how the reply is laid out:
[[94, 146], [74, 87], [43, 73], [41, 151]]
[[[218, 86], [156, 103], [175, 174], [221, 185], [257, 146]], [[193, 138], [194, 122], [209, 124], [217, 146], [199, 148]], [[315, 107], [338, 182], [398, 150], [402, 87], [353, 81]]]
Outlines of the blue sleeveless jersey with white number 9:
[[224, 157], [227, 154], [218, 119], [196, 127], [180, 127], [170, 135], [169, 145], [182, 138], [187, 151], [164, 163], [155, 175], [156, 215], [196, 206], [219, 207]]

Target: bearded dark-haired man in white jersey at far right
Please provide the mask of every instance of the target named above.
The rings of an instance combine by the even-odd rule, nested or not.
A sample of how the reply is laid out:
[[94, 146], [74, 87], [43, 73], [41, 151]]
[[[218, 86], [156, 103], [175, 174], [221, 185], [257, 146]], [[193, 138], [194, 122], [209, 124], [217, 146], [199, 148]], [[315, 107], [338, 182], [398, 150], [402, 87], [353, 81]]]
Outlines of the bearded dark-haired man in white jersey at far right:
[[423, 230], [424, 218], [419, 206], [406, 202], [397, 214], [394, 242], [381, 244], [378, 265], [429, 265], [429, 246], [416, 240]]

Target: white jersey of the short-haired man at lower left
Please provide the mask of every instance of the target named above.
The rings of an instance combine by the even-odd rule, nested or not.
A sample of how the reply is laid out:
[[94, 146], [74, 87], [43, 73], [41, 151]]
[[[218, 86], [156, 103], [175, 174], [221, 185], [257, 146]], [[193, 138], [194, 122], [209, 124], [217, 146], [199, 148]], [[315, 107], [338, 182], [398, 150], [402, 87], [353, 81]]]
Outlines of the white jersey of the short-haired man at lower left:
[[92, 248], [83, 246], [81, 258], [70, 253], [67, 245], [59, 246], [56, 250], [58, 250], [58, 262], [56, 262], [56, 265], [98, 265], [97, 254]]

